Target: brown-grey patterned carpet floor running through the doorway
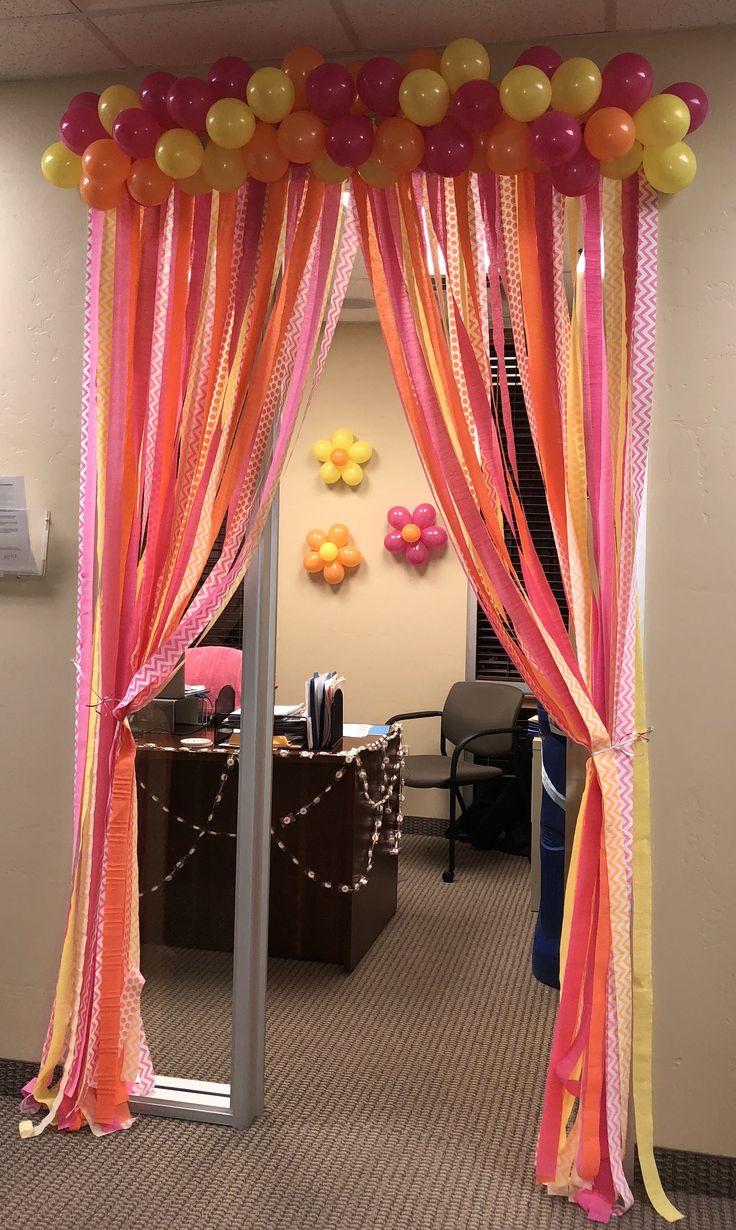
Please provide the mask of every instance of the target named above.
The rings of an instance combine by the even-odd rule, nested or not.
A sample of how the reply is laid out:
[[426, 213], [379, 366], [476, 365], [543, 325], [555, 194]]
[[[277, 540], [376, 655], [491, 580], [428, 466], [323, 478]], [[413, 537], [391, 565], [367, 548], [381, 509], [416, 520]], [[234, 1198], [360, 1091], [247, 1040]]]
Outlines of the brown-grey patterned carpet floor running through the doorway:
[[[464, 847], [448, 886], [443, 856], [437, 839], [405, 839], [399, 914], [353, 974], [272, 963], [268, 1107], [247, 1130], [146, 1118], [107, 1140], [21, 1143], [17, 1102], [0, 1098], [1, 1230], [585, 1225], [533, 1183], [555, 995], [529, 973], [528, 865]], [[159, 953], [155, 973], [151, 958], [158, 1069], [223, 1079], [226, 963], [180, 953], [172, 979], [174, 958]], [[694, 1230], [736, 1230], [732, 1172], [670, 1156]], [[661, 1225], [640, 1192], [625, 1224]]]

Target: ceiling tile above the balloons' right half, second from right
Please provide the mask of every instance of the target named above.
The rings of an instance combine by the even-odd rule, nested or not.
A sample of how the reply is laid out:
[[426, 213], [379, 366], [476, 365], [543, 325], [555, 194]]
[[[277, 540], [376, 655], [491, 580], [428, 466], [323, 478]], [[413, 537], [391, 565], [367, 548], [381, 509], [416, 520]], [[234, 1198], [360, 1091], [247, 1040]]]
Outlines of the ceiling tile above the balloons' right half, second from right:
[[463, 0], [462, 10], [447, 0], [343, 0], [345, 12], [354, 26], [363, 47], [442, 47], [452, 38], [469, 36], [492, 47], [506, 39], [528, 38], [537, 42], [554, 34], [602, 31], [603, 0], [567, 0], [550, 5], [549, 0]]

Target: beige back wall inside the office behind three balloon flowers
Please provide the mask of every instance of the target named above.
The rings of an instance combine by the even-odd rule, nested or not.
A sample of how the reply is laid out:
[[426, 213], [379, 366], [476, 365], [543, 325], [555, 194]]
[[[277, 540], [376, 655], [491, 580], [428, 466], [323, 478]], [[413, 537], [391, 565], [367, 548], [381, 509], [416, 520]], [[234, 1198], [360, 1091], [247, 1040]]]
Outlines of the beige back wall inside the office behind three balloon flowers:
[[[363, 482], [327, 487], [311, 456], [314, 440], [338, 427], [373, 444]], [[278, 569], [278, 699], [304, 696], [313, 670], [346, 676], [348, 722], [382, 722], [390, 713], [439, 708], [465, 678], [468, 585], [448, 547], [423, 576], [384, 550], [391, 504], [410, 509], [431, 499], [404, 419], [378, 325], [337, 326], [325, 373], [281, 487]], [[363, 563], [332, 588], [302, 567], [304, 536], [343, 522]], [[412, 752], [437, 750], [438, 723], [407, 723]], [[409, 815], [447, 815], [439, 791], [407, 791]]]

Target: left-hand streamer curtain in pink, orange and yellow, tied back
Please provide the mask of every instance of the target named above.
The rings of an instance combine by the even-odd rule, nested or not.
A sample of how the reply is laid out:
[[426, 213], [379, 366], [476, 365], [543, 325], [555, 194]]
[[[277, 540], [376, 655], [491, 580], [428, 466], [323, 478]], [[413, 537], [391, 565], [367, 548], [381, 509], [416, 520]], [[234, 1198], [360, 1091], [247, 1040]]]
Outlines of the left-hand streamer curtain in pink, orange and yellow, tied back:
[[[25, 1091], [26, 1108], [47, 1113], [23, 1135], [49, 1122], [127, 1127], [129, 1096], [153, 1087], [128, 717], [242, 579], [320, 337], [343, 209], [338, 186], [297, 172], [238, 194], [177, 192], [161, 208], [126, 197], [90, 218], [73, 889], [41, 1070]], [[343, 262], [350, 247], [348, 236]]]

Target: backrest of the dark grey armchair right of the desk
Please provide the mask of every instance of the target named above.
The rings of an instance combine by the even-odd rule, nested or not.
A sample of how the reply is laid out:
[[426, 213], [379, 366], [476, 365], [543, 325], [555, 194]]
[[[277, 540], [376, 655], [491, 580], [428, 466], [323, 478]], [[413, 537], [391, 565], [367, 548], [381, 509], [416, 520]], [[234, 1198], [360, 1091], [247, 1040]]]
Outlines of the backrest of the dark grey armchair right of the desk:
[[[485, 731], [490, 726], [513, 727], [523, 699], [522, 689], [513, 684], [490, 680], [453, 684], [442, 710], [442, 733], [450, 743], [459, 743], [474, 731]], [[510, 756], [512, 745], [513, 736], [490, 734], [475, 739], [468, 750], [492, 760]]]

